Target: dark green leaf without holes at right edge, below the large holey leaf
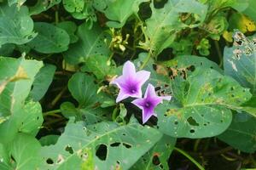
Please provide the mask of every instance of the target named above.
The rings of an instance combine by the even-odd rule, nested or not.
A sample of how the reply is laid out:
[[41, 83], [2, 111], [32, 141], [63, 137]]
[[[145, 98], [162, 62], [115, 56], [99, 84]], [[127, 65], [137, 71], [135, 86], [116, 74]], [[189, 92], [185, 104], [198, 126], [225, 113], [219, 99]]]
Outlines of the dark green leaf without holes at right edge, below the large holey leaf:
[[237, 150], [248, 153], [256, 151], [256, 119], [253, 116], [237, 113], [230, 127], [218, 136]]

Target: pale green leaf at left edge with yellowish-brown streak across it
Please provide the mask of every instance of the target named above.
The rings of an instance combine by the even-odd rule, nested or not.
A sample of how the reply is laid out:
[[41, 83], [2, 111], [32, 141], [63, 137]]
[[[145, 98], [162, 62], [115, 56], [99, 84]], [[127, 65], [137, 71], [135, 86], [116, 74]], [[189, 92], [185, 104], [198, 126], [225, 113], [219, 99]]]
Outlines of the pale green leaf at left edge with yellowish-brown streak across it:
[[0, 57], [0, 116], [20, 110], [42, 66], [37, 60]]

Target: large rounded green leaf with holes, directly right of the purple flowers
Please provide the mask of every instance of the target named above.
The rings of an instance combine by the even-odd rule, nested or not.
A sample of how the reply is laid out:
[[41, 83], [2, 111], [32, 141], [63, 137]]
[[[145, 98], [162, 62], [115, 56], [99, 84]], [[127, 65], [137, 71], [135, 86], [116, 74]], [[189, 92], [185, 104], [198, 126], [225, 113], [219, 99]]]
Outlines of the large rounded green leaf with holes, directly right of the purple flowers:
[[173, 137], [206, 138], [223, 133], [232, 120], [230, 109], [251, 98], [242, 88], [218, 71], [197, 68], [184, 80], [171, 82], [172, 99], [157, 107], [160, 131]]

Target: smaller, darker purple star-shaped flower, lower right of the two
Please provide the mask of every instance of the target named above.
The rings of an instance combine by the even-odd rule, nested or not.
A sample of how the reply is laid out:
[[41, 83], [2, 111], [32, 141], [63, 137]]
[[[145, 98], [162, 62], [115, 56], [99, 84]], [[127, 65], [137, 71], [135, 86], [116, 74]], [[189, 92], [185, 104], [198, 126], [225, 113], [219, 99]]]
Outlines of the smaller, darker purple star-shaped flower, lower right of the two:
[[143, 110], [143, 124], [148, 121], [151, 116], [156, 116], [154, 114], [154, 107], [162, 103], [163, 99], [171, 100], [171, 96], [158, 96], [155, 94], [154, 86], [148, 84], [145, 96], [143, 99], [135, 99], [131, 103], [137, 105], [138, 108]]

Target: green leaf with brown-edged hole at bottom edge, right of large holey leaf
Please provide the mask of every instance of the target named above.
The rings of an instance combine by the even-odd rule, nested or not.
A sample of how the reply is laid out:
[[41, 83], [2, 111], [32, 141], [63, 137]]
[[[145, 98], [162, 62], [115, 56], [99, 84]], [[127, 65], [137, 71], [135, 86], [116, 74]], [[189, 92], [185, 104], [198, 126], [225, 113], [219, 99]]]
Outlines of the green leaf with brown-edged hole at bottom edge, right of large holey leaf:
[[149, 150], [132, 167], [134, 170], [169, 169], [168, 159], [176, 144], [176, 139], [164, 135], [154, 147]]

